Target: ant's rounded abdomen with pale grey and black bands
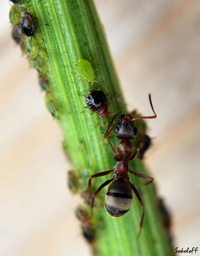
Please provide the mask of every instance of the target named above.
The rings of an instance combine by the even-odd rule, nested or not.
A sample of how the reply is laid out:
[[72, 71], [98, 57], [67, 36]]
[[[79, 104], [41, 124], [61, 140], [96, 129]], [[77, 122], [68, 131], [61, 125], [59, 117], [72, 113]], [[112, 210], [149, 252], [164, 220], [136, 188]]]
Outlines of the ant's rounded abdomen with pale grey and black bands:
[[105, 195], [105, 209], [112, 217], [126, 214], [132, 204], [131, 185], [125, 180], [115, 180]]

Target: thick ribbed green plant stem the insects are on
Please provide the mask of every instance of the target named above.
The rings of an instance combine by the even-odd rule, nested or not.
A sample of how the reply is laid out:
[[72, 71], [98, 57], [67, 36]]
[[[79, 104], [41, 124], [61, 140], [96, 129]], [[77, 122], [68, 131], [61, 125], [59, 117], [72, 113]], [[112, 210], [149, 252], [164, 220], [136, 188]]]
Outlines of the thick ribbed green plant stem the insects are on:
[[[64, 148], [74, 165], [75, 174], [78, 177], [78, 191], [82, 193], [88, 191], [89, 176], [111, 170], [116, 162], [113, 159], [111, 148], [102, 139], [108, 121], [105, 119], [102, 122], [104, 127], [98, 125], [94, 128], [99, 123], [99, 116], [97, 114], [90, 116], [88, 113], [91, 112], [82, 107], [85, 98], [81, 92], [85, 89], [86, 80], [73, 83], [80, 80], [81, 76], [72, 74], [69, 70], [77, 72], [78, 59], [86, 58], [89, 61], [86, 43], [93, 70], [100, 64], [95, 77], [105, 79], [104, 84], [109, 91], [109, 102], [113, 101], [109, 105], [109, 112], [112, 113], [124, 106], [118, 78], [108, 51], [103, 26], [92, 0], [41, 0], [39, 3], [38, 0], [31, 0], [31, 5], [30, 7], [27, 4], [24, 8], [34, 14], [38, 20], [38, 33], [34, 38], [38, 40], [38, 45], [43, 52], [47, 53], [48, 61], [41, 64], [39, 55], [36, 57], [34, 55], [30, 61], [40, 74], [46, 73], [49, 79], [46, 94], [47, 107], [55, 109], [54, 117], [58, 118], [58, 123], [62, 128], [65, 138]], [[44, 24], [49, 26], [44, 26]], [[41, 40], [41, 37], [46, 43]], [[98, 89], [99, 83], [94, 83], [93, 88]], [[91, 84], [88, 84], [86, 92], [90, 89]], [[51, 102], [50, 106], [49, 102]], [[123, 108], [120, 114], [126, 112], [127, 110]], [[113, 134], [110, 134], [109, 138], [116, 148], [119, 139]], [[130, 163], [130, 169], [147, 174], [139, 159]], [[110, 179], [112, 174], [108, 176], [93, 179], [93, 191], [105, 180]], [[142, 183], [137, 177], [130, 175], [130, 178], [136, 187]], [[108, 186], [102, 189], [96, 202], [98, 200], [104, 202], [107, 189]], [[161, 212], [156, 203], [154, 184], [142, 187], [139, 192], [146, 207], [139, 240], [141, 255], [173, 255], [170, 239], [166, 235]], [[136, 236], [139, 231], [142, 209], [136, 196], [133, 195], [133, 197], [130, 211], [122, 218], [111, 218], [104, 207], [94, 207], [92, 223], [95, 227], [95, 241], [92, 243], [92, 248], [95, 255], [138, 255]]]

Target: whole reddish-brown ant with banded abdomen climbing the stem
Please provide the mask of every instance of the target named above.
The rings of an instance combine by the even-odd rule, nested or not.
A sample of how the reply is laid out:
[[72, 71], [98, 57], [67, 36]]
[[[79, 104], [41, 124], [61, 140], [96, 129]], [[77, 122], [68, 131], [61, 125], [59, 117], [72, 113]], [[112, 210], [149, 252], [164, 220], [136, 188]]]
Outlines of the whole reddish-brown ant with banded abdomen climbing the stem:
[[[137, 128], [135, 121], [136, 119], [141, 119], [141, 118], [156, 118], [157, 115], [154, 111], [152, 102], [151, 102], [151, 95], [149, 94], [149, 101], [151, 105], [151, 109], [153, 110], [154, 116], [149, 116], [149, 117], [137, 117], [137, 118], [132, 118], [130, 114], [123, 115], [119, 118], [119, 120], [116, 122], [116, 124], [109, 130], [109, 127], [111, 126], [111, 123], [108, 126], [107, 132], [104, 135], [104, 139], [107, 138], [109, 132], [116, 126], [118, 127], [115, 128], [115, 133], [116, 137], [121, 139], [120, 142], [118, 143], [117, 146], [117, 152], [115, 151], [115, 148], [112, 146], [112, 144], [109, 142], [108, 143], [111, 147], [112, 152], [114, 153], [114, 160], [117, 162], [116, 165], [113, 167], [112, 170], [108, 170], [105, 172], [101, 173], [96, 173], [90, 176], [89, 181], [88, 181], [88, 187], [89, 190], [91, 189], [91, 181], [92, 178], [96, 177], [102, 177], [105, 175], [108, 175], [109, 173], [115, 172], [110, 180], [105, 181], [101, 186], [95, 191], [95, 193], [92, 196], [92, 202], [91, 202], [91, 209], [93, 208], [94, 205], [94, 200], [95, 196], [103, 189], [106, 185], [109, 183], [112, 184], [108, 188], [108, 192], [105, 196], [105, 208], [108, 212], [109, 215], [112, 217], [121, 217], [124, 214], [126, 214], [131, 207], [132, 204], [132, 191], [135, 193], [136, 197], [138, 198], [139, 203], [141, 204], [142, 207], [142, 217], [140, 221], [140, 230], [142, 229], [143, 225], [143, 220], [144, 220], [144, 215], [145, 215], [145, 205], [142, 202], [142, 198], [139, 195], [139, 192], [135, 188], [135, 186], [130, 182], [130, 178], [128, 176], [128, 172], [131, 174], [134, 174], [137, 177], [140, 178], [145, 178], [149, 181], [145, 182], [144, 185], [150, 184], [153, 182], [153, 178], [150, 176], [147, 176], [145, 174], [141, 173], [136, 173], [130, 170], [129, 168], [129, 161], [135, 159], [141, 150], [143, 143], [140, 143], [139, 146], [136, 148], [135, 153], [132, 154], [132, 143], [130, 142], [130, 139], [134, 139], [137, 134]], [[131, 156], [132, 154], [132, 156]]]

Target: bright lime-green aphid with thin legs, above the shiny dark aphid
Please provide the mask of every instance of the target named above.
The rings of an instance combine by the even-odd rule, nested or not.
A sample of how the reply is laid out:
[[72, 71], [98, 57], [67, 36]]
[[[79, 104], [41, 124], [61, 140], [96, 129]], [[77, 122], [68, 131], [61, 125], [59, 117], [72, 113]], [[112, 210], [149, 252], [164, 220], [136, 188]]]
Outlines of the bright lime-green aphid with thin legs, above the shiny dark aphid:
[[[76, 66], [77, 66], [76, 68], [77, 68], [78, 73], [72, 72], [72, 71], [70, 71], [68, 68], [67, 68], [67, 69], [68, 69], [72, 74], [75, 74], [75, 75], [76, 75], [76, 74], [80, 74], [80, 75], [82, 76], [82, 78], [81, 78], [80, 80], [75, 81], [75, 82], [73, 82], [73, 83], [80, 82], [80, 81], [82, 81], [83, 79], [85, 79], [85, 80], [87, 81], [86, 86], [85, 86], [85, 89], [86, 89], [88, 83], [93, 84], [93, 83], [96, 83], [96, 82], [101, 82], [102, 80], [96, 81], [94, 72], [98, 70], [100, 64], [98, 65], [97, 69], [93, 70], [93, 68], [92, 68], [92, 66], [91, 66], [91, 58], [90, 58], [90, 56], [89, 56], [89, 53], [88, 53], [88, 49], [87, 49], [87, 47], [86, 47], [86, 44], [85, 44], [85, 48], [86, 48], [86, 52], [87, 52], [88, 57], [89, 57], [89, 61], [86, 60], [86, 59], [78, 60], [78, 63], [76, 64]], [[100, 78], [99, 78], [99, 79], [100, 79]], [[103, 83], [101, 83], [101, 84], [103, 85]], [[103, 87], [104, 87], [104, 85], [103, 85]], [[85, 89], [84, 89], [84, 91], [85, 91]], [[105, 87], [104, 87], [104, 89], [107, 91], [107, 89], [106, 89]], [[83, 92], [84, 92], [84, 91], [83, 91]], [[83, 93], [83, 92], [82, 92], [82, 93]]]

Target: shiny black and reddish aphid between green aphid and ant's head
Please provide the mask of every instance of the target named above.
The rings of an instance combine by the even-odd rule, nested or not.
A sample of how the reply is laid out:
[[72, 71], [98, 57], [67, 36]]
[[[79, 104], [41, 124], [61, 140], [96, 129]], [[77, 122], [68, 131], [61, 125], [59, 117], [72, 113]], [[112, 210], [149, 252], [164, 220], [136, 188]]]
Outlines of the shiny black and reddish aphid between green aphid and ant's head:
[[[84, 95], [85, 96], [85, 95]], [[101, 90], [92, 90], [85, 96], [86, 107], [103, 118], [108, 116], [108, 98]]]

